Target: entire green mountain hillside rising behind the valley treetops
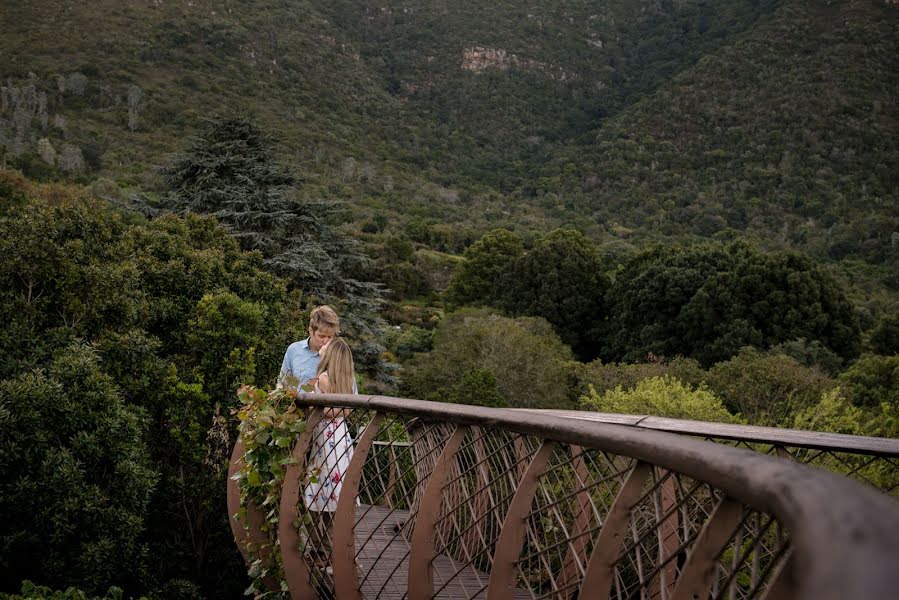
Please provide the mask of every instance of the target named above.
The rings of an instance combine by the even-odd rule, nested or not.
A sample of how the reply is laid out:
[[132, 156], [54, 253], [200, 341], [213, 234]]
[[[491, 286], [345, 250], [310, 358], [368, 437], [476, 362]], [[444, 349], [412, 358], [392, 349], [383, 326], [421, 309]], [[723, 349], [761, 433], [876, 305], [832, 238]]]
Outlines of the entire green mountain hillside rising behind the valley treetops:
[[615, 256], [747, 235], [899, 285], [892, 3], [2, 10], [0, 163], [35, 179], [156, 190], [201, 118], [237, 109], [277, 132], [300, 195], [451, 225], [416, 239], [435, 250], [495, 226], [575, 226]]

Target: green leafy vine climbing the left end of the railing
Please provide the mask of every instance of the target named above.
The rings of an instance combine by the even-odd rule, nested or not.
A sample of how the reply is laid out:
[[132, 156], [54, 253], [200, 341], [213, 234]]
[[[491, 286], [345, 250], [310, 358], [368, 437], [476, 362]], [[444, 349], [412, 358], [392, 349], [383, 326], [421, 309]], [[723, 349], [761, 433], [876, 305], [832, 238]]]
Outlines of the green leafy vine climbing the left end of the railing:
[[237, 392], [241, 406], [232, 410], [244, 448], [243, 463], [233, 476], [240, 488], [240, 508], [232, 518], [247, 523], [247, 505], [252, 504], [265, 514], [260, 529], [268, 537], [268, 546], [249, 543], [247, 547], [252, 557], [247, 568], [252, 583], [245, 594], [256, 598], [270, 593], [266, 579], [288, 591], [278, 540], [278, 508], [285, 469], [295, 460], [290, 456], [291, 446], [306, 428], [305, 415], [294, 402], [296, 395], [293, 386], [272, 391], [242, 386]]

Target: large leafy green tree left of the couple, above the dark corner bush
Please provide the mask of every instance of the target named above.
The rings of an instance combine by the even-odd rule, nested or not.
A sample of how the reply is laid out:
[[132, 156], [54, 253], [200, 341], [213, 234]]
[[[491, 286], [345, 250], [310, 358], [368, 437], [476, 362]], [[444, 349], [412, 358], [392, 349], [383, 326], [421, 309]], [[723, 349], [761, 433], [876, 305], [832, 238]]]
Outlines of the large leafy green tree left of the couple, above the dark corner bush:
[[135, 559], [147, 575], [125, 589], [239, 594], [246, 583], [221, 510], [233, 439], [224, 415], [236, 382], [274, 377], [305, 326], [302, 298], [208, 217], [129, 221], [102, 202], [32, 200], [0, 232], [0, 377], [49, 364], [73, 340], [94, 342], [102, 372], [146, 411], [141, 435], [159, 479]]

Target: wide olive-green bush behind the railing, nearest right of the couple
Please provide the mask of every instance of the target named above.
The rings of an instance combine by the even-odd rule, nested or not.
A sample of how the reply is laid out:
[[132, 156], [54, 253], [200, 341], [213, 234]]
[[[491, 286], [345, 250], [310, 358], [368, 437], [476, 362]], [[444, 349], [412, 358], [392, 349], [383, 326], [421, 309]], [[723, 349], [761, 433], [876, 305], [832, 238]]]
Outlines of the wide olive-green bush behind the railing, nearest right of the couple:
[[495, 402], [492, 385], [468, 390], [461, 384], [466, 373], [471, 373], [472, 381], [484, 383], [489, 371], [509, 406], [567, 408], [563, 375], [570, 357], [570, 350], [543, 319], [461, 310], [437, 326], [433, 351], [406, 363], [402, 392], [425, 400], [455, 394], [475, 404], [482, 403], [481, 397]]

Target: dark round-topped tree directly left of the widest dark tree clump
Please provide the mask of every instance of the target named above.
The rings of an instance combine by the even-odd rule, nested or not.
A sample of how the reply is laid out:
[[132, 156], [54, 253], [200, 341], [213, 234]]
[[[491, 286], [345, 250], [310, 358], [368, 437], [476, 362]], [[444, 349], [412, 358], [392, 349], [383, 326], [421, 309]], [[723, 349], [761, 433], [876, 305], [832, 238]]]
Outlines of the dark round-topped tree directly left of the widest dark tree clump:
[[609, 278], [582, 233], [551, 232], [515, 260], [506, 287], [503, 303], [510, 312], [543, 317], [578, 356], [596, 356]]

